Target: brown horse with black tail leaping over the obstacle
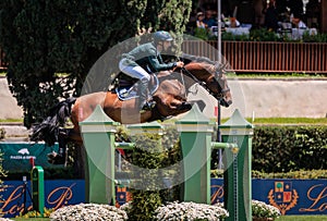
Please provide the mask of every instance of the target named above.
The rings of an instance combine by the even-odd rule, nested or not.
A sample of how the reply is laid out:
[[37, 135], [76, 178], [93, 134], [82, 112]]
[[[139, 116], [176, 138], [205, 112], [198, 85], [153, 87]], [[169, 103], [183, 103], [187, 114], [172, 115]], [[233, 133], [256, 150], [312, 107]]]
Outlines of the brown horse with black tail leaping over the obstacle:
[[[140, 112], [137, 97], [122, 100], [116, 90], [97, 91], [78, 98], [69, 98], [59, 102], [49, 115], [32, 127], [31, 142], [44, 140], [48, 146], [59, 144], [59, 154], [50, 154], [49, 161], [55, 164], [64, 163], [66, 144], [72, 142], [82, 145], [78, 123], [87, 119], [97, 106], [116, 122], [122, 124], [145, 123], [156, 120], [165, 121], [170, 116], [185, 113], [192, 109], [187, 101], [187, 89], [198, 83], [223, 107], [232, 103], [232, 96], [227, 77], [221, 66], [213, 62], [191, 61], [173, 73], [162, 71], [157, 74], [158, 87], [153, 94], [155, 107]], [[73, 127], [66, 128], [68, 119]]]

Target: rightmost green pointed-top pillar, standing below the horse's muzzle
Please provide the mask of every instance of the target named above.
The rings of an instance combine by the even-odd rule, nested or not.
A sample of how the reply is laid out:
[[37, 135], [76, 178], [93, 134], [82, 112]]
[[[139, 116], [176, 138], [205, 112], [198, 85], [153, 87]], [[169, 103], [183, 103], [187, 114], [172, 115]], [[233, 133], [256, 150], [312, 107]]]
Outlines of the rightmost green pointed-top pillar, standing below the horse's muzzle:
[[225, 150], [225, 207], [227, 221], [252, 221], [251, 152], [253, 125], [237, 109], [232, 116], [219, 126], [223, 143], [235, 143], [239, 151]]

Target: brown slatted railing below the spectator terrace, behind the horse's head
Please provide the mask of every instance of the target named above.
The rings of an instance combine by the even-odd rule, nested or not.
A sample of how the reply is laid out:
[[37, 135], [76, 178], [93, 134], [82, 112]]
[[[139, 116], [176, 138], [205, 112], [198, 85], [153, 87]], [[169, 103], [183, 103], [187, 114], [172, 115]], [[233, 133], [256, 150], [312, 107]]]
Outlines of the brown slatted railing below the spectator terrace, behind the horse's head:
[[[187, 40], [182, 51], [218, 60], [217, 41]], [[221, 53], [235, 72], [327, 74], [327, 44], [222, 41]]]

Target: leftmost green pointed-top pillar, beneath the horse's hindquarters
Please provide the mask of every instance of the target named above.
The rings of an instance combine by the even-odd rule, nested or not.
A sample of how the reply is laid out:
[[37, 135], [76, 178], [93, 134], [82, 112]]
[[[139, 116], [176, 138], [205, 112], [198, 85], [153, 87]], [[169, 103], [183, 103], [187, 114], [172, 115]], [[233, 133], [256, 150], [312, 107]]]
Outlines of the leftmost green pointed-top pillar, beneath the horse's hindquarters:
[[87, 202], [116, 205], [114, 133], [118, 125], [118, 122], [107, 116], [100, 106], [80, 123], [86, 150]]

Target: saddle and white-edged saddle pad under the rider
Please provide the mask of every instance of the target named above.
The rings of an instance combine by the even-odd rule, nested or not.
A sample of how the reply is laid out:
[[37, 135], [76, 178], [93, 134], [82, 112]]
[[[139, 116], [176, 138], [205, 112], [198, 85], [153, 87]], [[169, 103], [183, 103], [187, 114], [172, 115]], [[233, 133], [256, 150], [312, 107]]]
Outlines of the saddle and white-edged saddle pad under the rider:
[[[156, 74], [150, 75], [148, 95], [153, 96], [159, 87], [159, 79]], [[113, 91], [120, 100], [138, 98], [138, 79], [120, 74], [116, 78]]]

